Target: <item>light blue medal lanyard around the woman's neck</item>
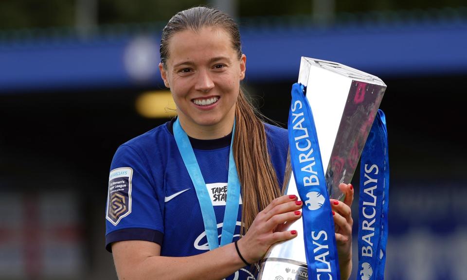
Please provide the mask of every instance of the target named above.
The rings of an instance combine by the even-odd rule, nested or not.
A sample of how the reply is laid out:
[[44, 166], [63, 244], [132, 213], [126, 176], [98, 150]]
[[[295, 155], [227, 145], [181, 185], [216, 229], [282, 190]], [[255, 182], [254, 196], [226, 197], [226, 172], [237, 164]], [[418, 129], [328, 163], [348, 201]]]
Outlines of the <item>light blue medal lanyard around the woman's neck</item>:
[[[220, 246], [232, 243], [234, 238], [235, 225], [238, 215], [238, 202], [240, 198], [240, 181], [238, 180], [237, 168], [234, 161], [234, 153], [232, 144], [234, 142], [235, 134], [235, 120], [234, 129], [232, 130], [232, 140], [230, 143], [229, 153], [229, 177], [227, 179], [227, 202], [225, 206], [224, 222], [222, 226], [222, 237]], [[209, 249], [213, 250], [219, 247], [219, 239], [217, 233], [216, 214], [214, 206], [211, 202], [211, 197], [206, 188], [203, 175], [199, 169], [198, 161], [196, 160], [195, 152], [191, 146], [190, 140], [185, 131], [177, 120], [174, 123], [174, 136], [179, 148], [181, 158], [185, 163], [188, 174], [195, 186], [196, 195], [198, 196], [199, 206], [201, 207], [201, 214], [204, 221], [204, 229], [206, 230], [206, 237], [208, 239]]]

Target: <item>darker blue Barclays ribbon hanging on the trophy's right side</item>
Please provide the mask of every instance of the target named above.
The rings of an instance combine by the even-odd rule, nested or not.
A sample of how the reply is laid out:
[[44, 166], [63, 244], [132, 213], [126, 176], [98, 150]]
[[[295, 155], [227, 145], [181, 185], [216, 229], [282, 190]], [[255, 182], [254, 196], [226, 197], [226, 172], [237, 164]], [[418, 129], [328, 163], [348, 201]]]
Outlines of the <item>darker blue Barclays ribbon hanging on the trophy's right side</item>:
[[360, 161], [359, 274], [383, 280], [388, 239], [389, 157], [383, 111], [378, 110]]

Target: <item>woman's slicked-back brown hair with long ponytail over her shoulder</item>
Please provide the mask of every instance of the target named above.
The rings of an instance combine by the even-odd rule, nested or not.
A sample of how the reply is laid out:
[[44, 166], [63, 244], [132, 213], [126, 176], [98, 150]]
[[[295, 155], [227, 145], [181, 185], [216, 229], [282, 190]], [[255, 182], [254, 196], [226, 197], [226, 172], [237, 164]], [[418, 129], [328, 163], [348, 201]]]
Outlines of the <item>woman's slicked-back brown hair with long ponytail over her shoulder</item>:
[[[177, 32], [202, 27], [223, 28], [232, 38], [232, 47], [242, 56], [238, 25], [227, 14], [211, 8], [194, 7], [173, 16], [162, 30], [161, 62], [166, 68], [169, 41]], [[242, 227], [244, 235], [259, 211], [280, 195], [279, 182], [271, 164], [264, 123], [240, 89], [235, 106], [234, 159], [242, 190]]]

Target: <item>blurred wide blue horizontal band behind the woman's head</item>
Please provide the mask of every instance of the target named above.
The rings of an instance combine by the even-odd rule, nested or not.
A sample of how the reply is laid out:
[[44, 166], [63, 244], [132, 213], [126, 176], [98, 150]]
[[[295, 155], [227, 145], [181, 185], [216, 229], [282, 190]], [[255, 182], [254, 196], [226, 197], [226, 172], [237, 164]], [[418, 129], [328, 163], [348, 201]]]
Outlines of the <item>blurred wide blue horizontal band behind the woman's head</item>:
[[[467, 73], [466, 19], [349, 23], [323, 30], [244, 27], [241, 32], [251, 82], [295, 80], [300, 56], [384, 77]], [[152, 41], [145, 41], [145, 51], [136, 47], [130, 65], [125, 62], [137, 38], [102, 35], [89, 40], [56, 37], [0, 43], [0, 92], [162, 87], [157, 70], [159, 34], [146, 36]], [[131, 74], [134, 67], [142, 77]]]

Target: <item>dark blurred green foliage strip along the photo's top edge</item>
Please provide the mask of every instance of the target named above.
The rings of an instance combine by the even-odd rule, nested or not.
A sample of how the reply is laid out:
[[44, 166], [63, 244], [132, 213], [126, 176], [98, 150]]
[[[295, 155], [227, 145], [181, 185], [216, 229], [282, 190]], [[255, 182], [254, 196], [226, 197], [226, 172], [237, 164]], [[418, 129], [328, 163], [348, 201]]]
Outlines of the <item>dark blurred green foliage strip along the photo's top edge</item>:
[[[73, 27], [79, 0], [0, 0], [0, 30]], [[96, 0], [100, 25], [165, 22], [180, 10], [209, 5], [209, 0]], [[313, 0], [237, 0], [238, 16], [311, 15]], [[462, 7], [465, 0], [335, 0], [340, 13], [426, 10]]]

